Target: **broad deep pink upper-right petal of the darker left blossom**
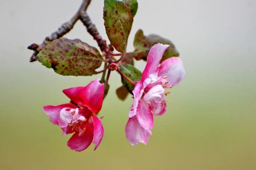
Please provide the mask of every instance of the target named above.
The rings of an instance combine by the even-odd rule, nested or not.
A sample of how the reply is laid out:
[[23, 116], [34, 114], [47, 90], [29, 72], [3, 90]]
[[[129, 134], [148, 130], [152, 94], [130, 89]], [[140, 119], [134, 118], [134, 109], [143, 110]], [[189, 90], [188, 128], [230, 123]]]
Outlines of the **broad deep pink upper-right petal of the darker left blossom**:
[[93, 113], [98, 113], [102, 107], [103, 94], [104, 84], [96, 79], [79, 92], [79, 97], [83, 99], [84, 106], [88, 107]]

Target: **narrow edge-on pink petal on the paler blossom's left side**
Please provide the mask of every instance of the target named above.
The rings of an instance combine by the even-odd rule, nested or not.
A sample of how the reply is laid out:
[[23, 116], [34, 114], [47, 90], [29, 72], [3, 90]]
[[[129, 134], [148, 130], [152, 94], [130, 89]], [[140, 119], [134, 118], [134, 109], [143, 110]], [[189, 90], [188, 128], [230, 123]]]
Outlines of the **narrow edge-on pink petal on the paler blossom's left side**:
[[135, 85], [135, 88], [133, 90], [133, 105], [131, 106], [130, 112], [129, 112], [129, 117], [133, 117], [134, 115], [136, 115], [137, 113], [137, 106], [138, 106], [138, 102], [141, 98], [141, 93], [143, 93], [143, 84], [141, 81], [137, 82], [137, 84]]

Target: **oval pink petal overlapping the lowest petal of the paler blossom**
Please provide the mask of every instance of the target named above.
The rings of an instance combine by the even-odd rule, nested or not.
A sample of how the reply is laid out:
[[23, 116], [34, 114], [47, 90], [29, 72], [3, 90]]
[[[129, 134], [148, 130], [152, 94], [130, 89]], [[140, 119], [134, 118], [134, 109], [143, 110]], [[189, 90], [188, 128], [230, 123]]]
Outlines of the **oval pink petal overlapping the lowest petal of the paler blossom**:
[[153, 114], [150, 111], [149, 103], [145, 102], [144, 100], [139, 100], [136, 116], [142, 127], [145, 129], [153, 128]]

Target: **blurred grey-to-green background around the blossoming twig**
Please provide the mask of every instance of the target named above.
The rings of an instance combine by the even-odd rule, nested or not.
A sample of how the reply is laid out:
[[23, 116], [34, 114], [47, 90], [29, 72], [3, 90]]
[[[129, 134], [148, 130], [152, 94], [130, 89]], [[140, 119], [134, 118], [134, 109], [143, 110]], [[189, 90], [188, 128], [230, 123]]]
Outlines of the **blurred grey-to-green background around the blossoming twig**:
[[[96, 151], [75, 152], [70, 136], [48, 121], [42, 106], [68, 101], [62, 89], [85, 86], [91, 77], [60, 76], [29, 63], [31, 43], [41, 43], [76, 12], [81, 0], [0, 0], [0, 169], [1, 170], [255, 170], [256, 1], [138, 0], [127, 51], [138, 29], [171, 39], [180, 52], [185, 79], [171, 95], [168, 111], [155, 117], [147, 145], [131, 146], [124, 102], [110, 91], [99, 113], [103, 141]], [[103, 0], [88, 14], [103, 37]], [[77, 22], [65, 37], [97, 46]], [[143, 70], [145, 62], [135, 64]]]

